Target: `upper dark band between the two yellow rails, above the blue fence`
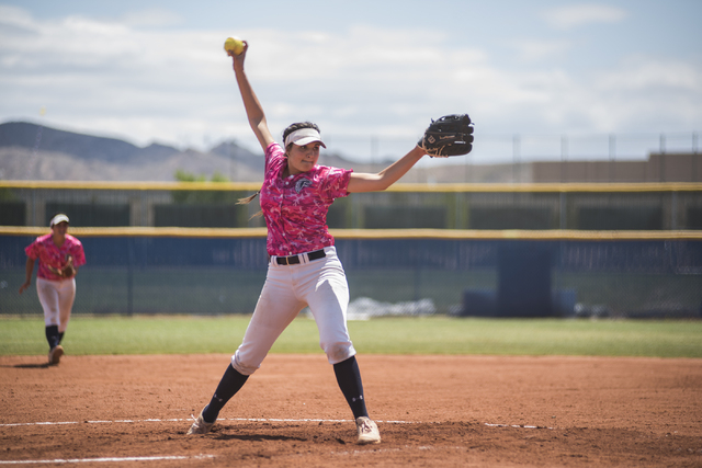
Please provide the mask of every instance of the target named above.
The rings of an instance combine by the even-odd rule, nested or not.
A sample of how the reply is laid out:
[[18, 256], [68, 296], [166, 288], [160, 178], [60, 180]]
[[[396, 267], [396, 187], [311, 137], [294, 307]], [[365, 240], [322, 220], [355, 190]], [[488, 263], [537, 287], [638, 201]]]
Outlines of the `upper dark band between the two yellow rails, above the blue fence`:
[[[0, 181], [0, 226], [263, 227], [260, 183]], [[702, 184], [397, 184], [335, 201], [336, 229], [698, 230]], [[229, 213], [231, 212], [231, 213]]]

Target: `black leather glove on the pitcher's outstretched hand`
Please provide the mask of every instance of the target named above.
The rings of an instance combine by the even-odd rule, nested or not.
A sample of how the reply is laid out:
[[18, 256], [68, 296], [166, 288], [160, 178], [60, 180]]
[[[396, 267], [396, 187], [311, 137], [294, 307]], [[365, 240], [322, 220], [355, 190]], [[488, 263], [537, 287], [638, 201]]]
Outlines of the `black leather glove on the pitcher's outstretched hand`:
[[471, 117], [468, 114], [452, 114], [432, 119], [417, 146], [432, 158], [467, 155], [473, 149]]

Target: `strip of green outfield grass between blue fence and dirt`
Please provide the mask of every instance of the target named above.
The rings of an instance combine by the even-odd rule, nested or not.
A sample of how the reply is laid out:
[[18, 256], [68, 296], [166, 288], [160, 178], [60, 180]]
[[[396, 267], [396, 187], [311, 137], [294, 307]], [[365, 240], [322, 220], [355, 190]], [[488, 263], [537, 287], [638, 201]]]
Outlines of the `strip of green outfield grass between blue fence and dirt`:
[[[234, 353], [248, 316], [73, 317], [72, 355]], [[349, 322], [365, 354], [702, 357], [702, 321], [387, 318]], [[47, 351], [39, 318], [0, 319], [0, 355]], [[298, 318], [273, 353], [321, 353], [317, 327]]]

